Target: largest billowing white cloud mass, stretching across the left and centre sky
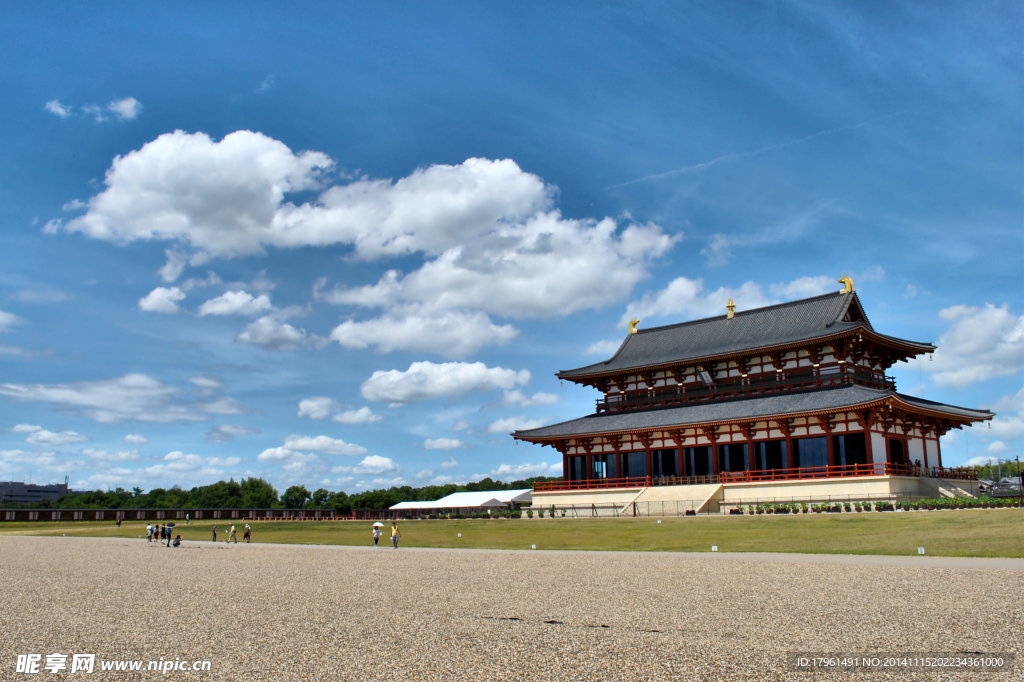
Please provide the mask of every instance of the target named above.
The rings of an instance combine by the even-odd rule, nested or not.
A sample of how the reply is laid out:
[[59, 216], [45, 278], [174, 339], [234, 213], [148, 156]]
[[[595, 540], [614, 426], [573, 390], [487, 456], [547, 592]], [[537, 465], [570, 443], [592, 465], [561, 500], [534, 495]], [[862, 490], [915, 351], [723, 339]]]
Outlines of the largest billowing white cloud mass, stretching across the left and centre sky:
[[[427, 260], [414, 272], [330, 292], [319, 283], [316, 295], [383, 310], [340, 325], [332, 338], [342, 345], [452, 356], [515, 336], [490, 314], [562, 315], [622, 300], [680, 239], [653, 224], [563, 218], [553, 207], [556, 188], [511, 160], [469, 159], [325, 188], [333, 166], [324, 154], [296, 154], [250, 131], [219, 142], [175, 131], [115, 159], [85, 215], [50, 231], [173, 242], [162, 272], [168, 281], [185, 263], [269, 246], [347, 245], [364, 260], [422, 254]], [[290, 201], [308, 189], [323, 191]]]

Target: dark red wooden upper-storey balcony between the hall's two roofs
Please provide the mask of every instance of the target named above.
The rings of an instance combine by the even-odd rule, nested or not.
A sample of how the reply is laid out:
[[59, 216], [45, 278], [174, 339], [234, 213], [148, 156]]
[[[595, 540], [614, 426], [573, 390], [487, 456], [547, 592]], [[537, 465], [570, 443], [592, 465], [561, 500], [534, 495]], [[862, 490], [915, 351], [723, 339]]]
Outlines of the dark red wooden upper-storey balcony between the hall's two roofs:
[[699, 383], [648, 388], [606, 395], [597, 400], [597, 413], [670, 408], [708, 400], [755, 397], [771, 393], [812, 391], [838, 386], [867, 386], [896, 390], [896, 380], [853, 365], [840, 365], [825, 372], [812, 369], [752, 375], [728, 379], [711, 386]]

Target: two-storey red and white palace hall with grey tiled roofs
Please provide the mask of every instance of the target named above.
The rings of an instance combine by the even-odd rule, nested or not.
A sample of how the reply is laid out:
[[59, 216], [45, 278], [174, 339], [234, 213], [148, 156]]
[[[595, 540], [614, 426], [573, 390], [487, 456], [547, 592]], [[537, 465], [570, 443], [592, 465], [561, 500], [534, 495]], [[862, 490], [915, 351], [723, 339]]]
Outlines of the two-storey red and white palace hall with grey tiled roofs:
[[835, 294], [629, 334], [603, 363], [558, 373], [603, 393], [594, 414], [514, 438], [562, 455], [572, 491], [850, 476], [965, 478], [939, 437], [992, 418], [899, 393], [886, 371], [931, 353], [886, 336], [853, 283]]

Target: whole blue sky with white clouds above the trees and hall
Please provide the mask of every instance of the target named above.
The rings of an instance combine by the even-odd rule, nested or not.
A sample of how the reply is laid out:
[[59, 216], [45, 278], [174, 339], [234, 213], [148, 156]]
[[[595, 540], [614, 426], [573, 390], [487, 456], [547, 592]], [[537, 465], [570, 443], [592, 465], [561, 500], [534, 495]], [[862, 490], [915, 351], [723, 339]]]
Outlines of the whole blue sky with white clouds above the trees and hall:
[[853, 278], [1021, 454], [1019, 3], [10, 3], [0, 478], [559, 473], [641, 327]]

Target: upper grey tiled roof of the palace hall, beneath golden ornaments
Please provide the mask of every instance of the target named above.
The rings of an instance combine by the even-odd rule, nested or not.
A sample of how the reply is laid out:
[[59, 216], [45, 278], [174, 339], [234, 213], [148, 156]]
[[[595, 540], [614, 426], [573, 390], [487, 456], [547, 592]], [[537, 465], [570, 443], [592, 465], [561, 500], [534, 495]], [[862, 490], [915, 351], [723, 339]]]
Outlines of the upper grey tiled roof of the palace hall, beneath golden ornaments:
[[[847, 311], [851, 311], [851, 319], [854, 322], [843, 322]], [[558, 376], [568, 379], [722, 356], [833, 336], [856, 329], [876, 334], [857, 294], [825, 294], [738, 311], [732, 319], [719, 315], [667, 327], [641, 329], [626, 337], [611, 359], [559, 372]], [[881, 337], [878, 334], [876, 336]], [[927, 343], [882, 338], [920, 347], [921, 352], [934, 349]]]

